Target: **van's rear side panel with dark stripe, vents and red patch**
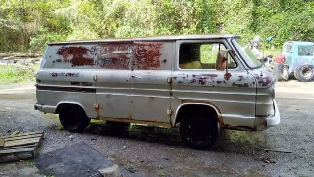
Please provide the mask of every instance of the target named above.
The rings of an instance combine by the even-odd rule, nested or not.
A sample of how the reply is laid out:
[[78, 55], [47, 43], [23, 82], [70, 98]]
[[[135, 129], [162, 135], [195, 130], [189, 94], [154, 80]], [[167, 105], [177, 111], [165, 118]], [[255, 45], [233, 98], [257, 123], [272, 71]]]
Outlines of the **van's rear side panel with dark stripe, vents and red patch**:
[[79, 104], [90, 118], [94, 111], [97, 44], [49, 45], [36, 75], [37, 104], [55, 113], [60, 103]]

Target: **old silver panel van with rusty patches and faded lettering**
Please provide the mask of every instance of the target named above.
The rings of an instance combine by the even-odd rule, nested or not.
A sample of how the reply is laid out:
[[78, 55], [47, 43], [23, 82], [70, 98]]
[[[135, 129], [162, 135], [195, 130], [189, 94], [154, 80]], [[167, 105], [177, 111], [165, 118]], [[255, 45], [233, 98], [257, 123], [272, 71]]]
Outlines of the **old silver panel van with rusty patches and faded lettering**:
[[192, 148], [220, 129], [280, 123], [278, 78], [239, 36], [202, 34], [50, 43], [36, 74], [35, 110], [82, 132], [92, 119], [174, 127]]

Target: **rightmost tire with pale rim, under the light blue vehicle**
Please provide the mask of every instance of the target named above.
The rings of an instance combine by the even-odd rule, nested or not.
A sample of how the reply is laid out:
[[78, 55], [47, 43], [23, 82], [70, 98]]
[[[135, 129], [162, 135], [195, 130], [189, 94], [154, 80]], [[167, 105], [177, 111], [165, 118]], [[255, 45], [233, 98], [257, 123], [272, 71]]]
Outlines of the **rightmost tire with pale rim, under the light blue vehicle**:
[[314, 65], [304, 63], [295, 69], [295, 76], [301, 82], [310, 82], [314, 79]]

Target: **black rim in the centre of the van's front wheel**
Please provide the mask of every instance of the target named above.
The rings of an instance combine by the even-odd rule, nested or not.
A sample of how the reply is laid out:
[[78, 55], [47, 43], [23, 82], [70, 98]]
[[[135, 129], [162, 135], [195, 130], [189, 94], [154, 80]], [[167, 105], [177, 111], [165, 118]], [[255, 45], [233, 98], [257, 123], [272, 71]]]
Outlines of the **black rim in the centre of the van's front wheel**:
[[211, 137], [211, 128], [208, 121], [200, 119], [198, 121], [190, 121], [187, 129], [187, 139], [193, 142], [203, 142]]

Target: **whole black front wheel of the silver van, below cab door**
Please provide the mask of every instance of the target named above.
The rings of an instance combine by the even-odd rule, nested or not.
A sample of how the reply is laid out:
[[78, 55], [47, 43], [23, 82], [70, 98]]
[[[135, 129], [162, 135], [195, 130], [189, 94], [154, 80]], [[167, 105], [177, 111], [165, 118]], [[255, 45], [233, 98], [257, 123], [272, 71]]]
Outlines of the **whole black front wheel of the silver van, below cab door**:
[[[198, 134], [198, 135], [197, 135]], [[216, 118], [205, 115], [186, 115], [180, 123], [183, 142], [194, 149], [213, 147], [220, 136], [220, 125]]]

